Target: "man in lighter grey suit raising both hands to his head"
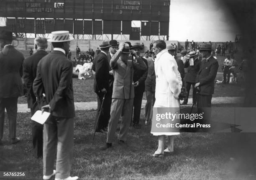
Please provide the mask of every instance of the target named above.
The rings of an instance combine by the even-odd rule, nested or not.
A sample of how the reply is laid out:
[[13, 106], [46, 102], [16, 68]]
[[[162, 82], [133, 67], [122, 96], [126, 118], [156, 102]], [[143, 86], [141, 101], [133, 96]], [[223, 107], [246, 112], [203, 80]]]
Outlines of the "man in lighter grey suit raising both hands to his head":
[[[137, 62], [128, 60], [129, 53], [133, 53]], [[100, 147], [101, 150], [106, 150], [112, 146], [118, 120], [121, 115], [122, 121], [118, 136], [119, 143], [123, 144], [127, 140], [134, 98], [133, 69], [147, 69], [143, 60], [137, 56], [135, 51], [130, 51], [130, 47], [126, 43], [120, 44], [120, 49], [110, 60], [110, 66], [113, 69], [114, 75], [113, 95], [110, 120], [108, 123], [107, 142], [104, 146]]]

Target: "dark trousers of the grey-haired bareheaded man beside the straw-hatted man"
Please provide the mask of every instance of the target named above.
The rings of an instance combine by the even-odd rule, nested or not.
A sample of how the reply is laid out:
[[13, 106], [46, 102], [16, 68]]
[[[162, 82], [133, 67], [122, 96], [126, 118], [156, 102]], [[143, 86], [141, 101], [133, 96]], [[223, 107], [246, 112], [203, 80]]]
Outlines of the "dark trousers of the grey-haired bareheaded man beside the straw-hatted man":
[[[35, 114], [37, 110], [39, 110], [39, 108], [37, 106], [37, 103], [35, 103], [33, 108], [31, 108], [31, 116], [33, 116], [33, 114]], [[34, 157], [43, 156], [43, 127], [43, 124], [31, 121]]]

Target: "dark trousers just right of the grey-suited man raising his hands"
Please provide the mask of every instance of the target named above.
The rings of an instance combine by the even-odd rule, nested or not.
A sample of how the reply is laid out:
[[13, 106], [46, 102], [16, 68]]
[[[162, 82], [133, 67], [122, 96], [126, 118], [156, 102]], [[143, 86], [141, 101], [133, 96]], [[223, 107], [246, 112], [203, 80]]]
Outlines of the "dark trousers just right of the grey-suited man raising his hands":
[[[143, 91], [141, 89], [136, 90], [134, 89], [134, 99], [133, 99], [133, 123], [139, 124], [140, 116], [141, 116], [141, 101], [143, 98]], [[145, 89], [145, 88], [144, 88]]]

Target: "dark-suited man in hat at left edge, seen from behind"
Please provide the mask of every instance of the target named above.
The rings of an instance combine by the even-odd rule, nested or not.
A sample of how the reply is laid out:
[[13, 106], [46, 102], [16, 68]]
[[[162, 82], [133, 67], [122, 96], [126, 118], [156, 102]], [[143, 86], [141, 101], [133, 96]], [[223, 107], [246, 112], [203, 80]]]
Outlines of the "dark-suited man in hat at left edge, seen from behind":
[[18, 96], [23, 96], [21, 77], [24, 56], [12, 46], [14, 39], [11, 31], [0, 31], [0, 145], [3, 139], [5, 109], [9, 119], [10, 142], [15, 144], [20, 141], [16, 137], [16, 118]]

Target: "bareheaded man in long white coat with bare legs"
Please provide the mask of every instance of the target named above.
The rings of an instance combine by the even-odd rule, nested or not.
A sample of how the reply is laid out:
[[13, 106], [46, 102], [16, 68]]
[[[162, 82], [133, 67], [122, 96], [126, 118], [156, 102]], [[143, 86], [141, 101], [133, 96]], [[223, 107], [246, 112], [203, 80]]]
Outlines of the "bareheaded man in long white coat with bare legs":
[[[153, 114], [157, 114], [159, 111], [165, 112], [166, 110], [174, 114], [179, 110], [178, 99], [182, 88], [182, 79], [178, 71], [177, 63], [174, 57], [168, 53], [166, 43], [163, 40], [155, 41], [152, 49], [156, 54], [156, 101], [154, 104]], [[174, 121], [169, 120], [169, 122], [173, 123], [177, 122], [177, 120], [179, 119], [175, 119]], [[179, 131], [175, 128], [158, 128], [159, 123], [161, 124], [163, 122], [164, 121], [157, 121], [156, 118], [152, 118], [151, 133], [154, 136], [158, 136], [158, 149], [154, 153], [154, 157], [163, 157], [164, 152], [173, 152], [173, 135], [179, 134]], [[164, 149], [165, 135], [168, 136], [166, 149]]]

